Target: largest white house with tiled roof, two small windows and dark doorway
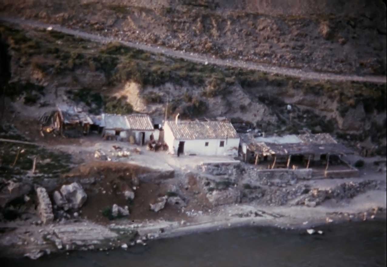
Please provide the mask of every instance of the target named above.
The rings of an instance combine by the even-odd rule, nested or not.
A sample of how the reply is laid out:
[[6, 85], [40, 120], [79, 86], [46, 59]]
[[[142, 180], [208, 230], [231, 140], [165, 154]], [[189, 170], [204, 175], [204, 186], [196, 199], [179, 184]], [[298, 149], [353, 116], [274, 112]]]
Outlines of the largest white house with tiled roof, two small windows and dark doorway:
[[240, 138], [228, 121], [166, 121], [164, 141], [172, 154], [238, 155]]

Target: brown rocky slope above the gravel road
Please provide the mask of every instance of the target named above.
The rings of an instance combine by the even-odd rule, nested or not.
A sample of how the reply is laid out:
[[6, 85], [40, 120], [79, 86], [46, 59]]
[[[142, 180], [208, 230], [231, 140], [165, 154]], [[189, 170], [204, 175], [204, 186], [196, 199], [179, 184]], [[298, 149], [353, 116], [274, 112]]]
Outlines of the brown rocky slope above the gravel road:
[[386, 73], [380, 0], [4, 0], [0, 12], [118, 39], [314, 71]]

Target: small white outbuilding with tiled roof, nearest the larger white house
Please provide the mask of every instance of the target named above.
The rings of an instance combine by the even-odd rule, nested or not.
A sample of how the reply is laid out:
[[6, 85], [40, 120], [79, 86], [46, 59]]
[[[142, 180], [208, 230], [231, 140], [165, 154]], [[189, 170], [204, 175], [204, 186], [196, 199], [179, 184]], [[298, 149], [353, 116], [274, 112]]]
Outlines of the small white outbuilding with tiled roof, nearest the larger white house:
[[130, 114], [127, 115], [130, 135], [135, 138], [136, 144], [144, 145], [150, 140], [153, 133], [154, 139], [159, 139], [159, 130], [154, 129], [151, 117], [147, 114]]

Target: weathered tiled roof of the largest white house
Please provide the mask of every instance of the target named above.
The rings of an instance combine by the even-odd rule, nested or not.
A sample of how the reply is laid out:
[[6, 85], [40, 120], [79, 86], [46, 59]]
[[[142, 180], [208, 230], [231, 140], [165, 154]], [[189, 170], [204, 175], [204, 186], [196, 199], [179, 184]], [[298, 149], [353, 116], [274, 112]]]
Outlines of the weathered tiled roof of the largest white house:
[[177, 140], [239, 138], [231, 122], [167, 121]]

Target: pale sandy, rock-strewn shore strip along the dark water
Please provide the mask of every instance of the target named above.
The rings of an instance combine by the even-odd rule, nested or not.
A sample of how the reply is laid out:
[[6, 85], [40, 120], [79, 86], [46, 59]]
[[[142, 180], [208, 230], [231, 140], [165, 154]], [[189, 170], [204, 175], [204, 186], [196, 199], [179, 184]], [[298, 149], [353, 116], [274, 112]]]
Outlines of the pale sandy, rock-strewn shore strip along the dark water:
[[[187, 221], [118, 220], [108, 225], [87, 220], [68, 221], [62, 225], [7, 226], [2, 234], [2, 257], [27, 256], [32, 259], [51, 253], [69, 253], [77, 250], [107, 251], [116, 248], [144, 246], [150, 240], [173, 238], [200, 232], [213, 232], [244, 226], [268, 226], [292, 230], [321, 228], [358, 221], [385, 221], [384, 207], [363, 210], [351, 206], [351, 212], [337, 208], [256, 208], [249, 205], [224, 206], [217, 215], [197, 215]], [[5, 230], [7, 227], [2, 227]], [[7, 231], [7, 230], [6, 230]], [[305, 231], [306, 233], [306, 231]], [[34, 242], [22, 243], [26, 235]], [[26, 238], [24, 239], [26, 240]], [[58, 245], [58, 241], [59, 244]]]

